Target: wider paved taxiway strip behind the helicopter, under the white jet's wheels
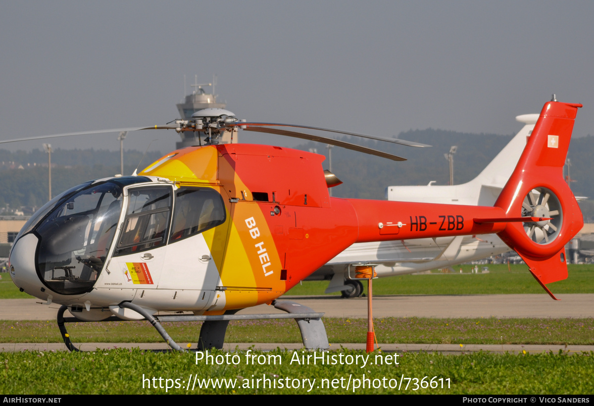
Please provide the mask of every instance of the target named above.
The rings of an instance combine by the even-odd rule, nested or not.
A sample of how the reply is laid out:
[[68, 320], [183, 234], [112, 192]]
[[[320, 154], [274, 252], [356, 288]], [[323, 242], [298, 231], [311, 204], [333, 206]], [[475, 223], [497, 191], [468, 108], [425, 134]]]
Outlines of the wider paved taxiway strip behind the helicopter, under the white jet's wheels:
[[[525, 295], [386, 295], [373, 299], [375, 317], [594, 317], [594, 294], [558, 295], [552, 300], [546, 294]], [[367, 317], [367, 299], [342, 299], [336, 296], [285, 296], [324, 317]], [[55, 320], [58, 304], [39, 304], [38, 299], [0, 300], [0, 320]], [[284, 313], [263, 304], [239, 314]]]

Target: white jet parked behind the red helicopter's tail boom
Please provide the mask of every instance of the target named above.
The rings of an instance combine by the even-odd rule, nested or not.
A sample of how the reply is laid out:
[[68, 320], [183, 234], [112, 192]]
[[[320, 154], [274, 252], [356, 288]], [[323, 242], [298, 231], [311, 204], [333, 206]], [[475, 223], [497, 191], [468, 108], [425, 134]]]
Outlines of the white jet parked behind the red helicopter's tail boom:
[[[434, 186], [432, 182], [426, 186], [389, 186], [387, 200], [492, 206], [516, 167], [538, 114], [520, 115], [516, 120], [525, 123], [522, 130], [472, 181], [452, 186]], [[305, 280], [330, 280], [326, 293], [342, 291], [343, 297], [358, 297], [363, 285], [352, 279], [355, 265], [377, 264], [377, 276], [383, 278], [448, 267], [507, 251], [510, 248], [495, 234], [353, 244]]]

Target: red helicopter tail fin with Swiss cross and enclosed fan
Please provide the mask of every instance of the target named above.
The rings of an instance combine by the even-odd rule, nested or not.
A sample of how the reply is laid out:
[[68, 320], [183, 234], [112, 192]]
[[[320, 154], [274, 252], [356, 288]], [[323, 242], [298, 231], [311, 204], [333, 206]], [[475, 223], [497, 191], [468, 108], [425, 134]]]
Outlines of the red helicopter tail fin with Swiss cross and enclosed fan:
[[545, 104], [516, 169], [495, 202], [508, 217], [544, 218], [538, 222], [510, 222], [499, 233], [543, 287], [567, 278], [565, 244], [583, 226], [582, 212], [563, 178], [580, 107], [573, 103]]

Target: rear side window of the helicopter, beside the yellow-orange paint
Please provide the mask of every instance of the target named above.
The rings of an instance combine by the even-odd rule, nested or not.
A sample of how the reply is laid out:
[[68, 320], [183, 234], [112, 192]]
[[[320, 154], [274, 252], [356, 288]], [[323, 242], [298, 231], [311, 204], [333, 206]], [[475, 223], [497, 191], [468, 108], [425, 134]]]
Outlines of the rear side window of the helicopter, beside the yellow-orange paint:
[[216, 190], [179, 188], [175, 192], [175, 210], [169, 243], [200, 234], [223, 224], [225, 219], [225, 204]]

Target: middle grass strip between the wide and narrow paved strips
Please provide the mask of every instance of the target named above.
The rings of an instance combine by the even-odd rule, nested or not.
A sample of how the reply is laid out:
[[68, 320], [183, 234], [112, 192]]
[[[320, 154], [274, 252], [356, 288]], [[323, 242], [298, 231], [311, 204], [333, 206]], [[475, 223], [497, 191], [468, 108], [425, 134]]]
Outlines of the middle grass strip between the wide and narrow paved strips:
[[[365, 342], [364, 319], [324, 319], [331, 344]], [[381, 344], [594, 345], [594, 319], [375, 319]], [[196, 343], [201, 322], [163, 323], [178, 344]], [[68, 323], [73, 342], [162, 342], [148, 322]], [[226, 342], [301, 342], [293, 320], [230, 322]], [[55, 321], [1, 321], [0, 342], [62, 342]]]

